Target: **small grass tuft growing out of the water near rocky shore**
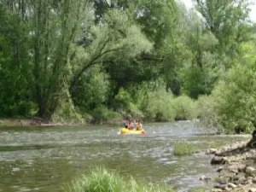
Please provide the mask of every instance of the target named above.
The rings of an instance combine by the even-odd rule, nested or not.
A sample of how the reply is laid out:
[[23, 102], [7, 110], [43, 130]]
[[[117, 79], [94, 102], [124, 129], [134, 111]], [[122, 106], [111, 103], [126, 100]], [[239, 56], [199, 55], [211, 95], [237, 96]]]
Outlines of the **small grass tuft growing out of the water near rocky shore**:
[[177, 142], [173, 147], [173, 154], [177, 156], [189, 155], [195, 153], [195, 147], [188, 142]]

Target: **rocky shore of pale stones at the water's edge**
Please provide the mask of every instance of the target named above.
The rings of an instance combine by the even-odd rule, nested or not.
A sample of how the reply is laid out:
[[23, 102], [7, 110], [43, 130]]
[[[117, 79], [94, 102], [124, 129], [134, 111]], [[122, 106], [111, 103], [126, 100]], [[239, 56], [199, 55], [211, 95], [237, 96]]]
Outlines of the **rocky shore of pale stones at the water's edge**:
[[214, 192], [256, 192], [256, 148], [246, 142], [234, 143], [224, 148], [210, 148], [211, 164], [217, 165], [218, 177], [214, 180]]

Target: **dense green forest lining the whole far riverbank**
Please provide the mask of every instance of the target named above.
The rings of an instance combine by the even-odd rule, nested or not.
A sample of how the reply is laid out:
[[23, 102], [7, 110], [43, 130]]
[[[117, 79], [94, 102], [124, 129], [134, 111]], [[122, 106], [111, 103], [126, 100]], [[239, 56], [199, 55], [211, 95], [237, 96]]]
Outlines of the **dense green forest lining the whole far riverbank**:
[[0, 0], [0, 117], [256, 125], [247, 0]]

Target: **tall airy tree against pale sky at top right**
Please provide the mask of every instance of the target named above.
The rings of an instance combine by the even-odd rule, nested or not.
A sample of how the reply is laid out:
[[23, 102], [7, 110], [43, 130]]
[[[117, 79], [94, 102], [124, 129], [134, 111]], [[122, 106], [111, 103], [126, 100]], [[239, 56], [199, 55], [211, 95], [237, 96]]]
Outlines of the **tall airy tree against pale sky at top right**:
[[237, 45], [249, 38], [249, 1], [195, 0], [195, 8], [201, 13], [207, 29], [218, 39], [218, 53], [236, 55]]

